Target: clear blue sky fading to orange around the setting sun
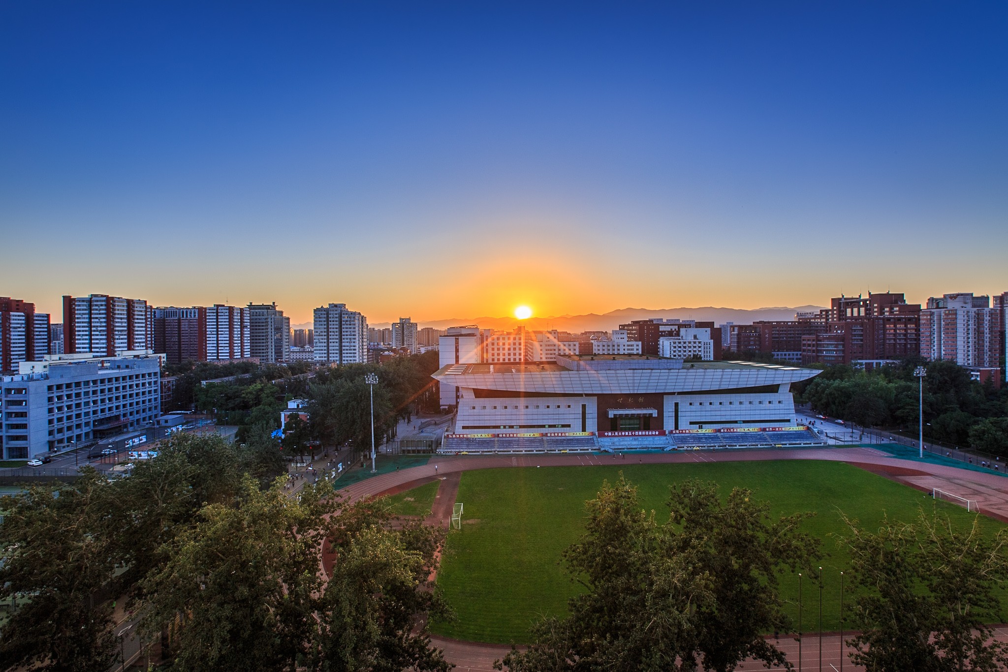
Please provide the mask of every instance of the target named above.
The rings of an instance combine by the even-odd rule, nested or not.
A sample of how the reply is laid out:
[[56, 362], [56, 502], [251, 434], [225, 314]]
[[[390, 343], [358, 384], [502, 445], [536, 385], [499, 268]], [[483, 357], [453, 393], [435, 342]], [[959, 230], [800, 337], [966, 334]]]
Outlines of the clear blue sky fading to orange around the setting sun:
[[1008, 291], [1006, 34], [1004, 2], [0, 3], [0, 295]]

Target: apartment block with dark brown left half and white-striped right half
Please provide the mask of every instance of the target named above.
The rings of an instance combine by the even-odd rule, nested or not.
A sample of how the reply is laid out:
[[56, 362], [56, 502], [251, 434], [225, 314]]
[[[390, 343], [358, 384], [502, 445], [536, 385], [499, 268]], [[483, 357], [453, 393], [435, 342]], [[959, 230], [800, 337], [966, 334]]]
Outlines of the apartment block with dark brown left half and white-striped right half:
[[251, 357], [249, 309], [216, 304], [153, 309], [154, 352], [168, 364]]

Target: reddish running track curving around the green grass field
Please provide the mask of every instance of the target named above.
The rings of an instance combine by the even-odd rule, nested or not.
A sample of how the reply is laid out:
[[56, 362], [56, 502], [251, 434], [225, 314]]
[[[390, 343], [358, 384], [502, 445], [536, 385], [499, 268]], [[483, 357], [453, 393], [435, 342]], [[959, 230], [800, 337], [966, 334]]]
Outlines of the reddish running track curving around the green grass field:
[[[434, 456], [421, 466], [413, 466], [398, 472], [355, 483], [343, 489], [341, 494], [348, 502], [381, 495], [390, 490], [400, 489], [414, 481], [431, 479], [484, 468], [510, 468], [515, 466], [591, 466], [597, 464], [638, 463], [678, 463], [752, 461], [768, 459], [825, 459], [850, 462], [867, 471], [879, 474], [917, 490], [930, 492], [939, 488], [948, 493], [975, 500], [980, 510], [999, 520], [1008, 522], [1008, 478], [995, 474], [899, 459], [881, 450], [870, 447], [848, 448], [801, 448], [795, 450], [691, 450], [646, 454], [627, 454], [614, 457], [609, 454], [538, 454], [538, 455], [444, 455]], [[453, 480], [454, 481], [454, 480]], [[442, 503], [443, 506], [446, 503]], [[1008, 630], [998, 629], [998, 639], [1008, 638]], [[483, 672], [493, 669], [493, 662], [503, 658], [508, 647], [458, 642], [434, 637], [434, 645], [445, 650], [448, 660], [455, 663], [459, 672]], [[791, 639], [781, 639], [782, 650], [797, 664], [797, 644]], [[837, 670], [840, 667], [840, 639], [836, 634], [824, 637], [823, 669]], [[765, 669], [755, 663], [739, 667], [745, 669]], [[820, 669], [820, 643], [817, 636], [806, 635], [802, 646], [802, 669]], [[849, 660], [844, 661], [845, 670], [855, 670]]]

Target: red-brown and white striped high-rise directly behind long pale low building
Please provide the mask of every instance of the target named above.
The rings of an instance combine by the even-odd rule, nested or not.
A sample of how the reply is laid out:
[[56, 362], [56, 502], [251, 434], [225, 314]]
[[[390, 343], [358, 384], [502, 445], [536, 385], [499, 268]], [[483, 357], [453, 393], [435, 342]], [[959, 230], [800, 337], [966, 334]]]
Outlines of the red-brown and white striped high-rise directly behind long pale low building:
[[114, 357], [153, 350], [153, 312], [142, 299], [89, 294], [64, 296], [64, 351]]

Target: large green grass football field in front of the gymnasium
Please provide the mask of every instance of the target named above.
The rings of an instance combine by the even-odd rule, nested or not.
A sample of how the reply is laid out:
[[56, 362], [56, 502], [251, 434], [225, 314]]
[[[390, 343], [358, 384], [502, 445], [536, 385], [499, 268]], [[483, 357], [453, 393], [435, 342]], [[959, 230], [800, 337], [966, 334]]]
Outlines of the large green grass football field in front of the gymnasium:
[[[954, 524], [972, 524], [974, 514], [843, 462], [781, 460], [689, 464], [623, 464], [493, 468], [466, 472], [458, 502], [467, 521], [448, 540], [437, 583], [458, 620], [433, 623], [434, 633], [464, 640], [527, 643], [528, 628], [542, 615], [561, 615], [578, 586], [558, 564], [560, 552], [583, 530], [584, 503], [594, 499], [603, 480], [623, 471], [637, 485], [644, 508], [663, 520], [668, 486], [686, 479], [715, 481], [724, 495], [733, 487], [748, 488], [771, 505], [773, 515], [813, 511], [807, 532], [823, 540], [823, 628], [839, 629], [840, 571], [849, 564], [831, 534], [844, 533], [839, 511], [868, 527], [885, 514], [911, 521], [918, 507], [937, 510]], [[981, 518], [987, 534], [1004, 527]], [[814, 569], [814, 568], [813, 568]], [[806, 572], [802, 572], [807, 576]], [[781, 578], [782, 596], [797, 619], [797, 576]], [[818, 590], [803, 580], [804, 632], [818, 630]], [[851, 593], [845, 591], [845, 604]], [[1002, 601], [1005, 602], [1004, 595]], [[1005, 620], [1004, 617], [1001, 619]]]

